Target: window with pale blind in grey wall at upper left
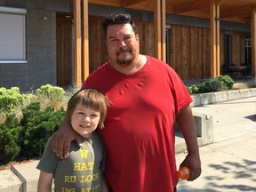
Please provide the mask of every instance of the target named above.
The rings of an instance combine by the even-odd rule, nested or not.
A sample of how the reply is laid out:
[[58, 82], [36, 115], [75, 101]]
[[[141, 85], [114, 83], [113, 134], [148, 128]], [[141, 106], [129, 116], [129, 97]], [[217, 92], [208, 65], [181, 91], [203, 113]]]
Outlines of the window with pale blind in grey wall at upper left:
[[26, 60], [26, 10], [0, 6], [0, 62]]

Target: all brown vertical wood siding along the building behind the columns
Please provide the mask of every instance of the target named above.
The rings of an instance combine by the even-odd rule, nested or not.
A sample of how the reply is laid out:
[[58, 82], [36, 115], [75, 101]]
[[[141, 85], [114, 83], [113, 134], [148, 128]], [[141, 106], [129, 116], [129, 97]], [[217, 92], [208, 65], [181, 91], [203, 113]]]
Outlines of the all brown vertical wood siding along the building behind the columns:
[[[102, 17], [89, 17], [89, 71], [109, 60], [103, 30], [101, 28]], [[154, 56], [155, 27], [153, 22], [136, 21], [136, 27], [140, 36], [140, 53]], [[71, 36], [70, 20], [57, 19], [57, 62], [58, 84], [71, 83]], [[210, 28], [197, 28], [181, 25], [171, 25], [169, 65], [174, 68], [182, 79], [204, 79], [211, 77], [211, 47]], [[231, 58], [232, 63], [239, 66], [244, 59], [244, 39], [250, 37], [250, 33], [228, 31], [232, 36]], [[225, 31], [220, 30], [220, 74], [224, 75], [224, 36]], [[65, 45], [66, 44], [66, 45]]]

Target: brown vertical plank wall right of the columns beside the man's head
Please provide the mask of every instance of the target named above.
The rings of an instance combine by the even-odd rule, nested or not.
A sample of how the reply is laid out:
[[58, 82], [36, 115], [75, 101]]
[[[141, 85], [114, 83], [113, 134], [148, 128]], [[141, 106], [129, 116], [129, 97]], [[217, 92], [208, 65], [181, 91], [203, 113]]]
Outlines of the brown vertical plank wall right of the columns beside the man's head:
[[[170, 33], [171, 66], [182, 79], [204, 79], [211, 77], [210, 29], [172, 25]], [[236, 66], [243, 65], [244, 39], [250, 33], [228, 31], [232, 35], [231, 58]], [[224, 74], [224, 36], [220, 30], [220, 74]], [[228, 64], [226, 64], [228, 65]]]

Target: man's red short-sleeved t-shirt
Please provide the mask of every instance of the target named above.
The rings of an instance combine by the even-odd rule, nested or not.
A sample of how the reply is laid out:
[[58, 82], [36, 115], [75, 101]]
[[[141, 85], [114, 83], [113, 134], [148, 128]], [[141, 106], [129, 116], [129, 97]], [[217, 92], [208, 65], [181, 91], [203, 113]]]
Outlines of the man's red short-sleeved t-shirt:
[[107, 148], [105, 172], [113, 191], [173, 191], [178, 182], [173, 124], [180, 108], [192, 101], [174, 70], [147, 56], [140, 71], [125, 75], [108, 61], [83, 87], [97, 88], [112, 102], [100, 135]]

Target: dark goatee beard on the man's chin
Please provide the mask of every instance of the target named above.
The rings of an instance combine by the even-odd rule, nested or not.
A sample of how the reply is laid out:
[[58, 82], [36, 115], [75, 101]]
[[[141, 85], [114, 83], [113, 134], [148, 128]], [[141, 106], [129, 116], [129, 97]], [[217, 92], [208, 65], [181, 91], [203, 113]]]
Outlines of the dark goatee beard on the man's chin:
[[[126, 55], [127, 52], [130, 54]], [[122, 54], [122, 55], [121, 55]], [[124, 55], [125, 54], [125, 55]], [[120, 56], [121, 55], [121, 56]], [[116, 63], [120, 66], [129, 66], [132, 64], [132, 61], [135, 58], [134, 52], [132, 52], [129, 48], [122, 48], [118, 52], [116, 52]]]

